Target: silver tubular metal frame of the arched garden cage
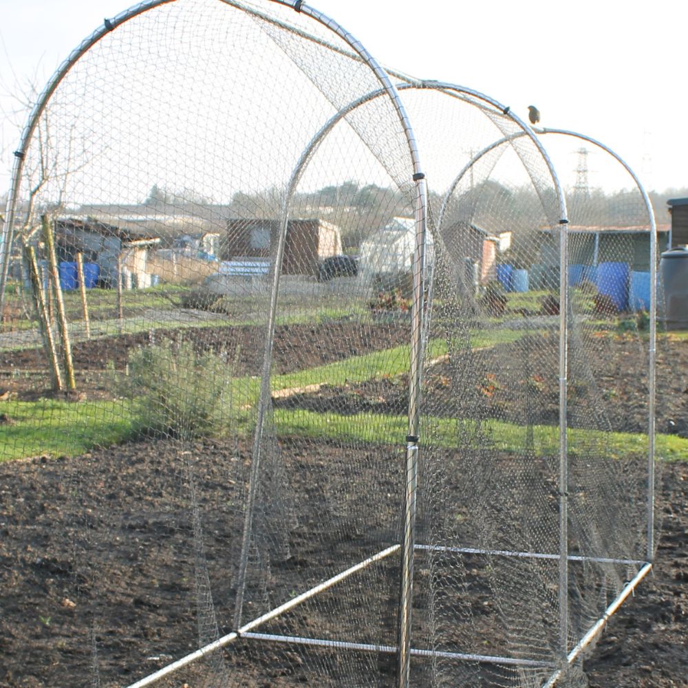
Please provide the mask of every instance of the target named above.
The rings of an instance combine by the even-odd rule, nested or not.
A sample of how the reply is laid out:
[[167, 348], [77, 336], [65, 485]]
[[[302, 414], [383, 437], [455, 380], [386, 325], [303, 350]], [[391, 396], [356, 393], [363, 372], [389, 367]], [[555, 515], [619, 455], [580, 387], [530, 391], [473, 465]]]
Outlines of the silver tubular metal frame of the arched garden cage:
[[[93, 47], [100, 39], [103, 38], [107, 33], [117, 28], [120, 24], [129, 21], [133, 17], [142, 14], [147, 10], [157, 8], [164, 4], [171, 3], [175, 0], [147, 0], [144, 1], [121, 14], [112, 20], [105, 21], [103, 27], [98, 28], [91, 36], [87, 37], [77, 48], [74, 50], [67, 60], [58, 68], [56, 74], [52, 77], [50, 82], [47, 84], [36, 105], [32, 109], [30, 117], [28, 119], [28, 124], [25, 126], [21, 136], [21, 142], [19, 149], [15, 153], [14, 167], [12, 170], [12, 187], [8, 195], [8, 202], [6, 206], [6, 217], [5, 222], [0, 233], [0, 311], [3, 308], [4, 295], [6, 291], [6, 281], [8, 275], [10, 250], [12, 246], [12, 240], [14, 238], [14, 219], [16, 213], [17, 205], [17, 195], [19, 193], [19, 186], [21, 184], [21, 175], [23, 173], [23, 163], [25, 159], [25, 153], [28, 149], [28, 144], [32, 140], [34, 131], [39, 124], [39, 120], [45, 111], [48, 101], [54, 94], [58, 85], [67, 73], [69, 69], [83, 56], [91, 47]], [[238, 10], [244, 12], [253, 12], [253, 9], [247, 10], [246, 7], [239, 3], [235, 3], [233, 0], [219, 0], [220, 2], [237, 8]], [[157, 682], [164, 676], [168, 676], [174, 671], [193, 663], [217, 649], [225, 647], [226, 645], [232, 643], [239, 638], [247, 638], [259, 641], [270, 641], [270, 642], [282, 642], [282, 643], [299, 643], [302, 645], [317, 645], [319, 647], [332, 647], [341, 649], [354, 649], [365, 652], [386, 652], [394, 653], [397, 655], [397, 665], [398, 665], [398, 676], [397, 685], [398, 688], [407, 688], [410, 681], [410, 662], [412, 656], [425, 656], [425, 657], [440, 657], [447, 658], [450, 660], [467, 660], [479, 663], [499, 663], [505, 665], [520, 665], [526, 667], [551, 667], [555, 669], [552, 676], [548, 682], [546, 682], [545, 687], [555, 685], [557, 680], [561, 678], [563, 671], [565, 671], [566, 666], [573, 663], [583, 649], [587, 647], [592, 640], [601, 632], [606, 621], [610, 618], [612, 614], [619, 608], [621, 603], [627, 598], [629, 594], [636, 588], [638, 583], [645, 577], [647, 572], [652, 569], [652, 557], [654, 556], [654, 394], [655, 394], [655, 380], [654, 380], [654, 365], [656, 361], [656, 323], [654, 314], [656, 313], [656, 289], [651, 290], [650, 295], [650, 310], [651, 310], [651, 325], [650, 325], [650, 378], [649, 378], [649, 388], [650, 388], [650, 411], [649, 411], [649, 457], [648, 457], [648, 496], [647, 496], [647, 562], [636, 561], [636, 560], [626, 560], [626, 559], [606, 559], [606, 558], [595, 558], [595, 557], [581, 557], [577, 555], [570, 555], [568, 553], [568, 447], [566, 442], [566, 426], [567, 426], [567, 413], [566, 413], [566, 402], [567, 402], [567, 357], [568, 357], [568, 270], [566, 266], [568, 265], [568, 233], [566, 230], [566, 224], [568, 223], [567, 213], [566, 213], [566, 200], [561, 191], [561, 186], [557, 178], [556, 171], [546, 150], [541, 145], [539, 138], [535, 134], [545, 134], [545, 133], [560, 133], [567, 136], [575, 136], [583, 140], [587, 140], [592, 144], [600, 147], [601, 149], [608, 152], [616, 160], [618, 160], [632, 175], [634, 182], [638, 186], [643, 196], [643, 201], [645, 202], [651, 225], [651, 245], [650, 245], [650, 265], [651, 265], [651, 283], [656, 285], [656, 258], [657, 258], [657, 248], [656, 248], [656, 226], [654, 221], [654, 213], [652, 212], [652, 204], [649, 201], [649, 197], [645, 192], [641, 182], [638, 180], [632, 169], [619, 157], [614, 151], [605, 147], [600, 142], [577, 134], [570, 131], [564, 131], [559, 129], [536, 129], [535, 133], [533, 129], [530, 129], [522, 120], [517, 118], [513, 113], [510, 112], [508, 108], [505, 108], [502, 104], [498, 103], [492, 98], [488, 98], [484, 94], [475, 92], [472, 89], [466, 89], [458, 85], [453, 85], [450, 83], [440, 83], [436, 81], [420, 81], [415, 80], [401, 74], [400, 72], [393, 72], [391, 70], [385, 71], [380, 65], [372, 58], [372, 56], [365, 50], [363, 45], [359, 43], [352, 34], [346, 32], [338, 23], [327, 17], [325, 14], [310, 8], [309, 6], [301, 3], [300, 1], [287, 1], [287, 0], [269, 0], [272, 3], [276, 3], [281, 6], [286, 6], [307, 15], [314, 21], [317, 21], [324, 25], [326, 28], [331, 30], [334, 34], [343, 39], [345, 43], [350, 45], [352, 48], [352, 53], [348, 53], [341, 48], [335, 47], [316, 39], [314, 36], [309, 36], [305, 32], [296, 30], [299, 35], [303, 35], [305, 38], [319, 42], [332, 50], [336, 50], [341, 54], [350, 56], [354, 59], [358, 59], [365, 63], [374, 73], [378, 82], [380, 83], [380, 89], [376, 92], [371, 92], [365, 94], [358, 100], [350, 103], [347, 107], [341, 109], [336, 113], [323, 127], [316, 133], [316, 136], [312, 139], [307, 149], [303, 151], [297, 166], [292, 172], [292, 178], [288, 186], [288, 193], [286, 194], [286, 200], [283, 203], [283, 208], [281, 212], [281, 224], [280, 233], [277, 243], [277, 252], [275, 255], [275, 261], [272, 265], [271, 274], [271, 292], [270, 292], [270, 304], [268, 311], [268, 323], [266, 325], [266, 344], [264, 348], [263, 356], [263, 369], [261, 378], [261, 391], [259, 395], [259, 401], [257, 406], [257, 426], [255, 429], [254, 444], [252, 449], [252, 462], [250, 468], [250, 482], [248, 488], [248, 495], [246, 498], [246, 513], [244, 518], [244, 530], [242, 537], [242, 548], [241, 548], [241, 558], [239, 561], [239, 576], [237, 579], [237, 599], [235, 603], [235, 618], [234, 618], [234, 629], [233, 632], [219, 638], [217, 641], [201, 647], [197, 651], [177, 660], [170, 665], [156, 671], [147, 678], [144, 678], [136, 683], [133, 683], [129, 688], [143, 688], [144, 686], [151, 685]], [[266, 17], [261, 15], [257, 10], [255, 11], [257, 16], [261, 16], [267, 21], [273, 21], [279, 24], [275, 18]], [[293, 28], [289, 27], [291, 30]], [[391, 83], [390, 75], [401, 79], [404, 83], [401, 83], [395, 87]], [[407, 89], [433, 89], [448, 96], [459, 98], [464, 100], [466, 103], [471, 103], [475, 107], [482, 107], [486, 111], [492, 111], [494, 114], [502, 114], [503, 116], [508, 116], [517, 126], [521, 129], [519, 133], [513, 136], [505, 137], [504, 139], [494, 142], [490, 147], [481, 151], [477, 156], [464, 166], [458, 178], [451, 186], [451, 189], [444, 199], [442, 208], [440, 210], [440, 217], [438, 218], [438, 225], [441, 225], [442, 217], [446, 209], [449, 196], [453, 193], [455, 186], [458, 184], [462, 176], [471, 169], [471, 166], [477, 162], [483, 155], [489, 151], [499, 147], [499, 145], [513, 141], [513, 139], [519, 136], [528, 136], [530, 140], [533, 141], [537, 149], [545, 160], [546, 165], [552, 176], [552, 181], [555, 185], [555, 190], [557, 192], [557, 202], [559, 204], [559, 229], [560, 229], [560, 253], [559, 261], [561, 269], [560, 278], [560, 321], [559, 321], [559, 552], [558, 553], [541, 553], [541, 552], [510, 552], [506, 550], [480, 550], [474, 548], [449, 548], [440, 546], [427, 546], [416, 543], [416, 495], [418, 486], [418, 454], [420, 451], [420, 387], [422, 379], [422, 359], [424, 356], [424, 337], [422, 333], [424, 332], [424, 314], [425, 314], [425, 304], [424, 304], [424, 290], [425, 283], [427, 279], [427, 189], [424, 182], [424, 174], [420, 166], [420, 159], [418, 155], [418, 148], [416, 146], [416, 140], [413, 136], [413, 130], [411, 129], [411, 124], [409, 118], [406, 114], [405, 107], [400, 99], [398, 91], [404, 91]], [[343, 572], [336, 574], [334, 577], [323, 581], [319, 585], [314, 586], [310, 590], [303, 592], [294, 599], [288, 601], [287, 603], [278, 606], [277, 608], [270, 610], [266, 614], [259, 616], [257, 619], [250, 621], [245, 625], [241, 625], [241, 616], [243, 614], [243, 602], [244, 602], [244, 589], [246, 585], [246, 571], [248, 566], [248, 553], [250, 549], [250, 541], [252, 537], [252, 517], [255, 506], [255, 497], [257, 494], [257, 486], [260, 475], [260, 464], [261, 464], [261, 435], [264, 428], [264, 422], [266, 418], [266, 413], [270, 407], [270, 364], [272, 361], [272, 339], [275, 332], [275, 321], [277, 315], [277, 303], [279, 299], [279, 283], [281, 274], [281, 264], [283, 260], [283, 253], [286, 243], [286, 231], [288, 226], [288, 213], [290, 200], [297, 188], [301, 174], [308, 164], [310, 158], [312, 157], [314, 151], [316, 151], [319, 144], [327, 136], [332, 128], [340, 122], [347, 114], [350, 114], [356, 107], [369, 102], [373, 98], [387, 97], [391, 101], [396, 114], [402, 125], [402, 129], [405, 134], [406, 142], [409, 149], [409, 162], [411, 162], [410, 168], [412, 169], [413, 182], [415, 184], [416, 197], [414, 200], [414, 208], [416, 215], [416, 246], [413, 256], [413, 305], [411, 310], [411, 360], [410, 360], [410, 376], [409, 376], [409, 407], [408, 407], [408, 426], [407, 426], [407, 438], [406, 438], [406, 449], [405, 449], [405, 495], [404, 495], [404, 508], [402, 517], [402, 541], [400, 544], [395, 544], [381, 550], [380, 552], [363, 559], [363, 561], [357, 563], [356, 565], [347, 568]], [[527, 169], [527, 168], [526, 168]], [[411, 615], [412, 615], [412, 599], [413, 599], [413, 555], [416, 550], [431, 550], [431, 551], [444, 551], [444, 552], [456, 552], [459, 554], [478, 554], [478, 555], [489, 555], [489, 556], [504, 556], [504, 557], [528, 557], [535, 559], [551, 559], [559, 561], [559, 667], [552, 667], [549, 663], [544, 663], [537, 660], [528, 659], [516, 659], [504, 656], [488, 656], [488, 655], [477, 655], [477, 654], [462, 654], [453, 652], [439, 652], [435, 650], [418, 649], [411, 647]], [[297, 605], [307, 601], [316, 594], [323, 592], [332, 586], [344, 581], [350, 576], [372, 566], [374, 563], [382, 561], [386, 557], [391, 555], [400, 555], [401, 557], [401, 574], [400, 574], [400, 606], [398, 615], [398, 639], [397, 644], [392, 645], [368, 645], [365, 643], [352, 643], [349, 641], [331, 641], [325, 639], [317, 638], [300, 638], [297, 636], [277, 636], [274, 634], [261, 634], [254, 632], [254, 630], [267, 623], [268, 621], [277, 618], [281, 614], [288, 612]], [[636, 577], [630, 583], [628, 583], [625, 588], [621, 591], [621, 594], [617, 596], [616, 600], [605, 610], [603, 617], [599, 619], [588, 632], [581, 638], [579, 643], [574, 646], [574, 648], [569, 652], [568, 650], [568, 563], [570, 561], [594, 561], [599, 563], [620, 563], [627, 565], [640, 565], [644, 564], [643, 568], [636, 574]]]

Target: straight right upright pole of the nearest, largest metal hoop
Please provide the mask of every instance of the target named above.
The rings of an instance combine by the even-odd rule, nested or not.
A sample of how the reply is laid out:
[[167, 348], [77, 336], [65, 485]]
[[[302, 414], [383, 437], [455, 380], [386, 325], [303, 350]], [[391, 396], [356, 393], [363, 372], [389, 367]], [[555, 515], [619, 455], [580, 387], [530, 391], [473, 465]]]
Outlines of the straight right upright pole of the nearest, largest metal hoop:
[[409, 370], [409, 425], [406, 438], [405, 493], [402, 518], [401, 580], [398, 616], [398, 688], [408, 688], [411, 678], [411, 622], [413, 610], [413, 550], [416, 546], [418, 493], [418, 441], [420, 430], [420, 385], [422, 382], [423, 317], [426, 270], [427, 219], [425, 175], [416, 182], [416, 248], [413, 256], [413, 305], [411, 306], [411, 365]]

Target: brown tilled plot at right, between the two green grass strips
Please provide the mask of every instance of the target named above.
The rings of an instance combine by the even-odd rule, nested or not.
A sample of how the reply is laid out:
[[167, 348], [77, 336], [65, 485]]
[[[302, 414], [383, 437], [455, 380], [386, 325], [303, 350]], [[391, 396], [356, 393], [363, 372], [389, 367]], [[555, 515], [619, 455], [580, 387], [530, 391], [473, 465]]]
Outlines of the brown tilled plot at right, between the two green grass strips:
[[[515, 344], [438, 361], [425, 376], [423, 394], [429, 413], [476, 420], [497, 418], [518, 424], [530, 418], [532, 424], [556, 425], [557, 369], [555, 365], [537, 367], [530, 361], [556, 361], [556, 347], [554, 340], [525, 337]], [[572, 369], [570, 425], [647, 432], [647, 351], [623, 336], [600, 342], [600, 347], [599, 355], [590, 351], [585, 356], [585, 375], [576, 367]], [[688, 438], [688, 345], [663, 341], [658, 348], [656, 429]], [[407, 398], [408, 376], [403, 375], [339, 387], [322, 385], [316, 391], [279, 398], [275, 404], [342, 414], [400, 414], [405, 413]]]

